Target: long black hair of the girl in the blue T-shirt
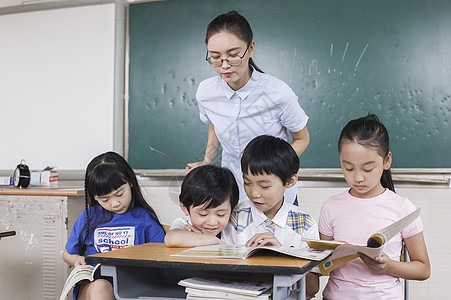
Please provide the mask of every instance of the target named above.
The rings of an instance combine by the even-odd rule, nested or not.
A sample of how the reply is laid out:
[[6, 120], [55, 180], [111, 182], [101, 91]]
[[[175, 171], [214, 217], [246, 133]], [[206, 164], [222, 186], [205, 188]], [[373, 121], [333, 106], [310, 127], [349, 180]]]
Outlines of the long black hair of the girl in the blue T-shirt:
[[[110, 221], [114, 213], [102, 209], [102, 214], [93, 215], [91, 208], [99, 206], [99, 202], [94, 199], [95, 196], [108, 195], [112, 191], [117, 190], [124, 184], [130, 185], [132, 199], [128, 211], [133, 211], [135, 207], [144, 208], [154, 219], [157, 224], [161, 226], [160, 221], [155, 211], [144, 199], [141, 188], [136, 179], [135, 172], [127, 163], [127, 161], [115, 152], [106, 152], [94, 157], [86, 168], [85, 174], [85, 210], [86, 223], [78, 237], [79, 253], [80, 255], [86, 252], [86, 241], [88, 237], [94, 232], [95, 228]], [[161, 228], [163, 228], [161, 226]]]

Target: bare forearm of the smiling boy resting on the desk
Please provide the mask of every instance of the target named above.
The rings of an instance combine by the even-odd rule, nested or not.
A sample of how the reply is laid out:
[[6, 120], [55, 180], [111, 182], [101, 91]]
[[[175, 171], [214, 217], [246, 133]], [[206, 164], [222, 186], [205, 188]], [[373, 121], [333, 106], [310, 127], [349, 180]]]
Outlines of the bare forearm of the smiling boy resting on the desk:
[[223, 241], [214, 235], [181, 229], [170, 230], [164, 237], [164, 243], [167, 247], [195, 247], [224, 244]]

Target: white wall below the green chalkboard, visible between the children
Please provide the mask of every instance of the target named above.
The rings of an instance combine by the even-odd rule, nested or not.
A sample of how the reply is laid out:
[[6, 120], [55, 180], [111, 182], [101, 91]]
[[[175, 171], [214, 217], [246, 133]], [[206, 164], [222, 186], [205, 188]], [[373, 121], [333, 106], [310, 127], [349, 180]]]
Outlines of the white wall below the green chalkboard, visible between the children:
[[[163, 224], [183, 217], [178, 206], [182, 177], [142, 178], [145, 197], [157, 211]], [[298, 197], [301, 207], [318, 220], [321, 205], [332, 195], [346, 190], [345, 183], [330, 181], [300, 182]], [[451, 269], [449, 249], [445, 244], [451, 228], [451, 187], [446, 185], [404, 184], [397, 185], [396, 192], [421, 207], [424, 235], [431, 260], [432, 274], [426, 281], [409, 281], [410, 300], [436, 300], [451, 294], [448, 270]], [[321, 279], [322, 288], [327, 279]], [[321, 298], [317, 296], [316, 300]]]

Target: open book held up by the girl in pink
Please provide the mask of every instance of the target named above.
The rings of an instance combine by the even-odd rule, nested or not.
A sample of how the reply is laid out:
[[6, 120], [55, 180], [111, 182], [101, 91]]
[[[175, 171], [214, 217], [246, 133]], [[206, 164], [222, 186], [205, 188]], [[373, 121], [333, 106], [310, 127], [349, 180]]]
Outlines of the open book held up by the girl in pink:
[[[420, 215], [418, 208], [414, 212], [405, 216], [401, 220], [372, 234], [367, 241], [367, 245], [356, 245], [337, 241], [303, 239], [311, 249], [333, 250], [331, 256], [322, 261], [318, 267], [322, 275], [329, 273], [342, 264], [359, 257], [357, 253], [363, 253], [371, 258], [381, 256], [384, 245], [395, 235], [401, 232], [407, 225], [413, 222]], [[335, 250], [334, 250], [335, 249]]]

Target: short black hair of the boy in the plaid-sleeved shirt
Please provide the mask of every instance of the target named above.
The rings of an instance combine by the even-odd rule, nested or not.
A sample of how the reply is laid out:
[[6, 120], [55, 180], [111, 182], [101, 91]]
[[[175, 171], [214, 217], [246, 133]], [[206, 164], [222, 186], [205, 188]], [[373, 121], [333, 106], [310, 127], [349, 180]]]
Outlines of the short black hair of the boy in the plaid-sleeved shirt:
[[283, 184], [299, 171], [299, 157], [286, 141], [269, 135], [254, 138], [246, 146], [241, 157], [244, 175], [276, 175]]

